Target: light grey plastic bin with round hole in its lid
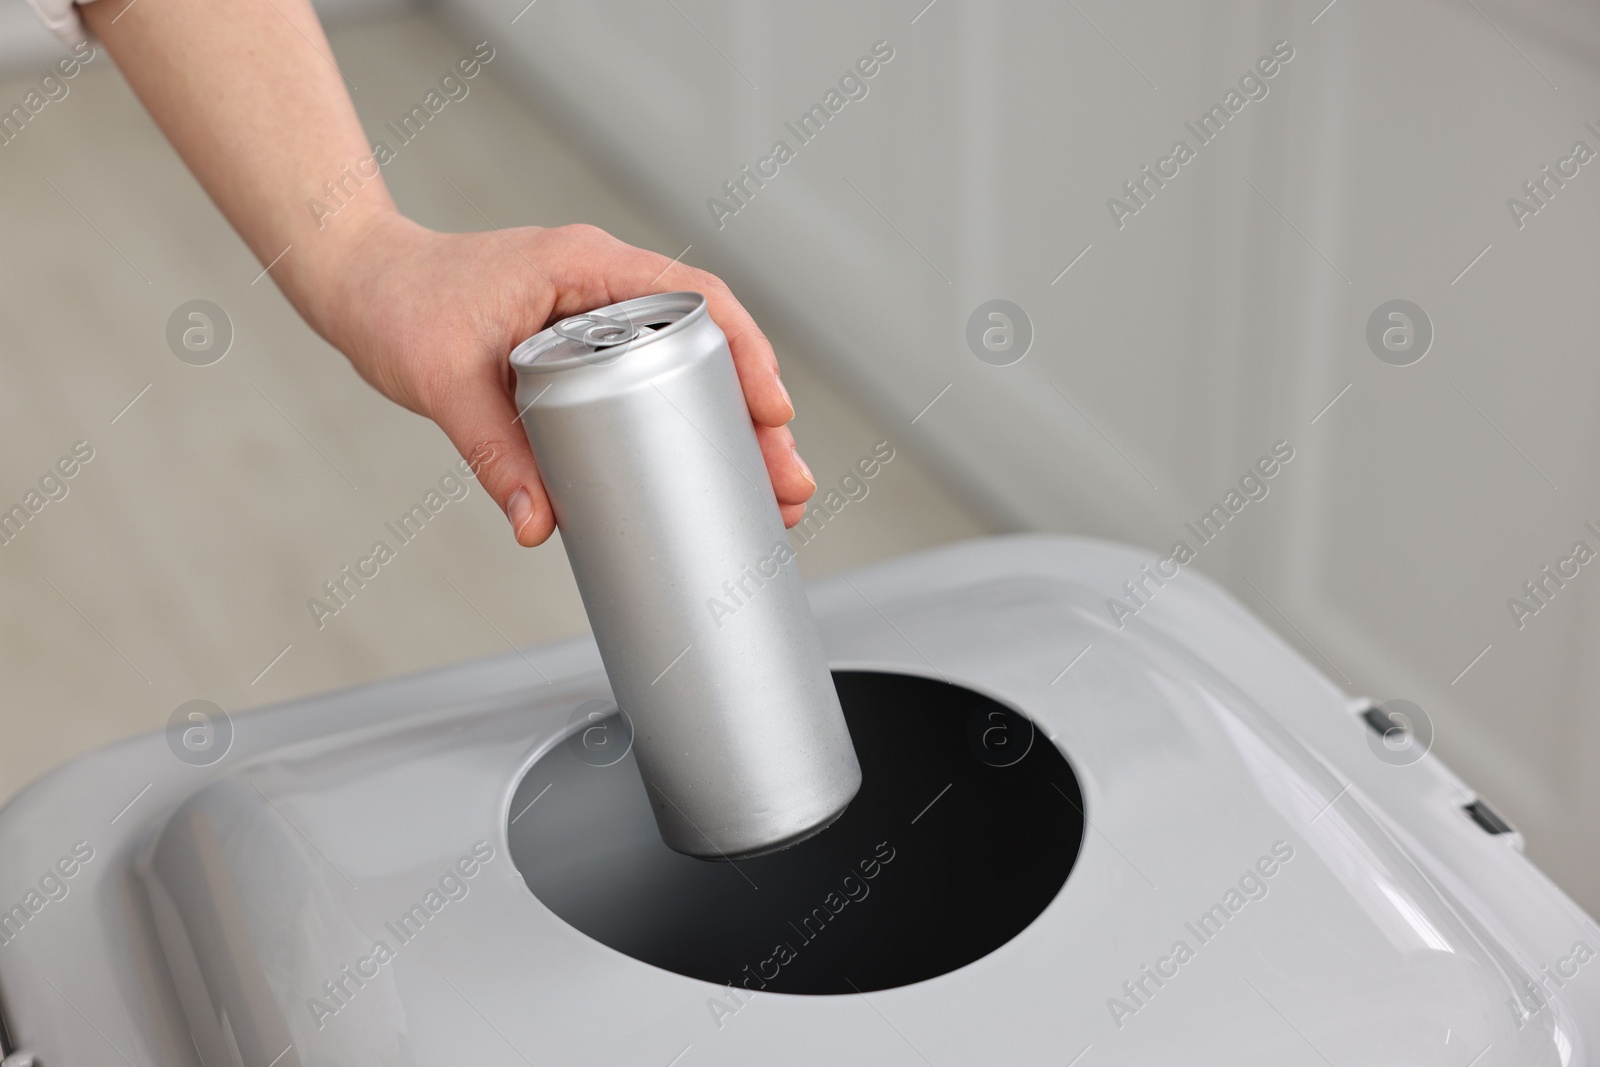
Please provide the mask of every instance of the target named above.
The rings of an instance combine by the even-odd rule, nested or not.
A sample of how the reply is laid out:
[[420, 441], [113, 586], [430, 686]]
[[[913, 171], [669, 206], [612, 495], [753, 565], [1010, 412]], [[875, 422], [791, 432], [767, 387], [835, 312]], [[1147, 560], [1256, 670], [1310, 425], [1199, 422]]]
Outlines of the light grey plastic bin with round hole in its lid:
[[862, 787], [750, 861], [661, 843], [589, 640], [90, 753], [0, 813], [6, 1064], [1590, 1062], [1594, 921], [1200, 574], [1115, 619], [1149, 561], [816, 584]]

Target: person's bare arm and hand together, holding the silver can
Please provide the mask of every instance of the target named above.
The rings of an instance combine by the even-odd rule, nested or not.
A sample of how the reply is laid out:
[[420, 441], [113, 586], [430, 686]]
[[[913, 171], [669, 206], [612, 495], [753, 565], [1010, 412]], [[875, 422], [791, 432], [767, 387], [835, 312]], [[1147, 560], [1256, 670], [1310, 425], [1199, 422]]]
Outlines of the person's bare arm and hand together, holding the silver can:
[[518, 542], [555, 522], [512, 403], [510, 350], [557, 318], [677, 290], [704, 293], [728, 334], [784, 522], [800, 520], [816, 483], [784, 429], [794, 408], [773, 346], [722, 282], [592, 226], [435, 234], [395, 210], [378, 174], [341, 186], [350, 200], [333, 218], [310, 210], [371, 157], [310, 0], [80, 10], [278, 288], [362, 378], [438, 422]]

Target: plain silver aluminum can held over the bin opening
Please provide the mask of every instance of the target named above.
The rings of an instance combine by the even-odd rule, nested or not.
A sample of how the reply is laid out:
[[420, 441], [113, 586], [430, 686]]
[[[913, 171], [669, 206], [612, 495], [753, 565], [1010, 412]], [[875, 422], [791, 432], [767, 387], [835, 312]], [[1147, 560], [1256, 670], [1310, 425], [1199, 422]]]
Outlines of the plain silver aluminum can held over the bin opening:
[[662, 840], [738, 859], [819, 832], [861, 766], [706, 298], [574, 315], [510, 362]]

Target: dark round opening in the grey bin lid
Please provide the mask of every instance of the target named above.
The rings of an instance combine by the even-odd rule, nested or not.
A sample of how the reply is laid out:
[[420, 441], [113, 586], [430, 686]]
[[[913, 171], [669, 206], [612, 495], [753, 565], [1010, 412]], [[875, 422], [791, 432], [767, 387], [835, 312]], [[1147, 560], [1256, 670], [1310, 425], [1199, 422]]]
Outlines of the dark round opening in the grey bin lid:
[[512, 800], [528, 888], [618, 952], [752, 990], [891, 989], [1008, 942], [1054, 899], [1083, 841], [1066, 758], [1027, 718], [962, 686], [875, 672], [834, 681], [862, 784], [832, 827], [758, 859], [674, 853], [632, 753], [616, 758], [626, 720], [597, 718], [538, 760]]

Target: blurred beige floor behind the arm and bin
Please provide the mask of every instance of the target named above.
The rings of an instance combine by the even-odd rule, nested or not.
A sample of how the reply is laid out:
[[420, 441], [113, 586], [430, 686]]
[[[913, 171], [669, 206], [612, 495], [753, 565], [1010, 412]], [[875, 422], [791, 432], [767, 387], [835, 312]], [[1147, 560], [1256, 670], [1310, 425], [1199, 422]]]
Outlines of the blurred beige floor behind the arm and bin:
[[[470, 51], [426, 14], [331, 37], [370, 133]], [[40, 74], [8, 72], [0, 101]], [[574, 155], [493, 64], [384, 176], [402, 210], [438, 229], [587, 221], [669, 256], [685, 243]], [[0, 507], [77, 442], [93, 448], [67, 494], [0, 545], [0, 798], [85, 749], [160, 728], [190, 699], [242, 710], [586, 629], [560, 545], [517, 549], [475, 486], [317, 629], [307, 598], [456, 456], [256, 282], [261, 264], [109, 56], [0, 147]], [[173, 309], [197, 298], [235, 331], [203, 368], [165, 339]], [[877, 442], [899, 445], [806, 354], [773, 341], [824, 491]], [[898, 448], [800, 566], [814, 577], [986, 531]]]

